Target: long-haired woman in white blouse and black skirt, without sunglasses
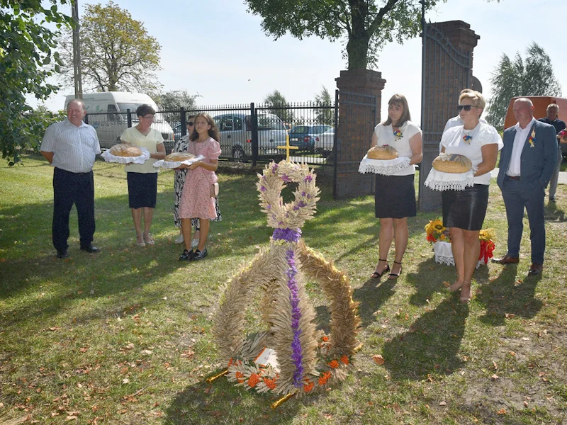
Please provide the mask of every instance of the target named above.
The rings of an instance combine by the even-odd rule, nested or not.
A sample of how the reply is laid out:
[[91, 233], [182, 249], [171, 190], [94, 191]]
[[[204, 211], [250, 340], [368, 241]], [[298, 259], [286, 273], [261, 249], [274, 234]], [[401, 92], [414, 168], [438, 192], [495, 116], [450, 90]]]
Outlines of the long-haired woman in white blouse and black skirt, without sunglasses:
[[402, 259], [408, 246], [408, 217], [417, 215], [415, 205], [415, 164], [421, 162], [422, 132], [412, 123], [405, 96], [395, 94], [388, 101], [388, 119], [376, 125], [371, 147], [389, 145], [398, 151], [398, 158], [409, 158], [405, 169], [390, 176], [376, 174], [374, 198], [376, 218], [380, 220], [378, 264], [372, 278], [379, 278], [390, 271], [388, 251], [395, 239], [395, 259], [388, 279], [396, 279], [402, 273]]

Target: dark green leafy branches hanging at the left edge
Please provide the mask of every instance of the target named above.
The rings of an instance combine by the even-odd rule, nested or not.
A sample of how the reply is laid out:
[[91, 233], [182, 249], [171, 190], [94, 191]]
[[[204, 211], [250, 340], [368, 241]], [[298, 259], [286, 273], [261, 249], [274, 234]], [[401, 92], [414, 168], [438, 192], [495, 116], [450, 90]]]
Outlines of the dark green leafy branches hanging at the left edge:
[[32, 113], [26, 95], [43, 101], [57, 91], [47, 83], [62, 64], [55, 31], [71, 22], [55, 0], [0, 0], [0, 149], [10, 165], [43, 135], [44, 115]]

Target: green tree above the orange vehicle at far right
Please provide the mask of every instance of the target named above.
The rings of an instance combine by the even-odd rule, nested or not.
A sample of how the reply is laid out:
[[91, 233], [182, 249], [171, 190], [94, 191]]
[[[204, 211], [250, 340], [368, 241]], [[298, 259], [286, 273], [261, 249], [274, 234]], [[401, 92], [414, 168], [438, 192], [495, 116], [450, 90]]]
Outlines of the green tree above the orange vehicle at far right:
[[555, 78], [551, 60], [537, 43], [527, 48], [525, 60], [516, 52], [514, 60], [503, 53], [495, 67], [492, 77], [493, 95], [488, 101], [486, 119], [499, 131], [504, 128], [504, 120], [515, 96], [561, 96], [561, 85]]

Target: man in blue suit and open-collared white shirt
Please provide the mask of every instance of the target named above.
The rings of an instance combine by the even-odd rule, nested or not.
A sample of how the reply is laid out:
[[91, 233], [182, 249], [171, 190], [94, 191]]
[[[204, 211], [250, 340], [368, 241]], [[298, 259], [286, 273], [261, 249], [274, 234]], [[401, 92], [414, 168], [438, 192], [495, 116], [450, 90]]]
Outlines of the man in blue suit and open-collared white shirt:
[[520, 261], [525, 208], [532, 243], [528, 275], [536, 276], [544, 269], [544, 198], [556, 163], [556, 134], [552, 125], [534, 119], [534, 105], [528, 98], [516, 99], [514, 116], [517, 124], [504, 131], [497, 179], [506, 206], [508, 250], [503, 258], [493, 261], [500, 264]]

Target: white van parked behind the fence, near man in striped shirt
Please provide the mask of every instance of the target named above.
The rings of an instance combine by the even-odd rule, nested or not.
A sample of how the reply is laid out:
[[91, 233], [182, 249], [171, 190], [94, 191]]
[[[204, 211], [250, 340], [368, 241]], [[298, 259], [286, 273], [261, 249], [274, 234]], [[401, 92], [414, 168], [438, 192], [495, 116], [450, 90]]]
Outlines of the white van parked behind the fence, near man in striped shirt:
[[[65, 110], [67, 110], [67, 103], [74, 98], [73, 95], [65, 98]], [[103, 149], [116, 145], [116, 142], [120, 140], [120, 135], [128, 127], [126, 114], [128, 110], [131, 113], [132, 125], [138, 122], [135, 114], [138, 106], [150, 105], [157, 111], [157, 105], [150, 96], [129, 91], [87, 93], [83, 94], [83, 102], [87, 113], [85, 121], [95, 128]], [[152, 128], [162, 133], [166, 150], [170, 152], [174, 143], [172, 126], [162, 118], [160, 113], [156, 113]]]

